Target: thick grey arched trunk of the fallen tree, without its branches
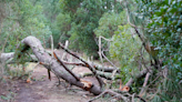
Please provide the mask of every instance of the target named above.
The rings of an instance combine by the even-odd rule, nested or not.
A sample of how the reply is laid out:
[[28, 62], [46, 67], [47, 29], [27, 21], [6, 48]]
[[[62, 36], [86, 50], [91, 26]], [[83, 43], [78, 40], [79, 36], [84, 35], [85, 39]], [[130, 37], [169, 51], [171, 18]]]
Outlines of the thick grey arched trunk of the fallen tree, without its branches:
[[77, 85], [87, 91], [90, 91], [91, 93], [93, 93], [95, 95], [98, 95], [102, 92], [100, 86], [92, 84], [91, 82], [78, 80], [72, 74], [70, 74], [57, 61], [57, 59], [52, 58], [49, 53], [47, 53], [47, 51], [41, 45], [41, 42], [32, 35], [27, 37], [21, 41], [21, 44], [19, 45], [18, 51], [16, 53], [8, 54], [8, 58], [7, 57], [3, 57], [3, 58], [4, 58], [4, 60], [7, 60], [9, 58], [12, 58], [12, 55], [13, 55], [13, 58], [20, 59], [29, 48], [32, 49], [38, 61], [41, 64], [43, 64], [48, 70], [52, 71], [58, 78], [65, 80], [67, 82], [69, 82], [72, 85]]

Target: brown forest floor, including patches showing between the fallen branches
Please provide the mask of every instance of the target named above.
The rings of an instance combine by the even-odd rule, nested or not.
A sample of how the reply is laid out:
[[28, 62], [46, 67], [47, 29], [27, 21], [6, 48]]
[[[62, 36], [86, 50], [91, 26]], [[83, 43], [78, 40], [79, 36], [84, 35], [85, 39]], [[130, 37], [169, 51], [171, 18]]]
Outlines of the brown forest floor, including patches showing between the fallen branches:
[[[58, 51], [60, 58], [62, 58], [62, 51]], [[79, 54], [80, 57], [83, 57]], [[77, 59], [67, 55], [73, 62], [78, 62]], [[48, 70], [42, 65], [29, 62], [26, 65], [26, 73], [33, 71], [31, 74], [31, 82], [27, 82], [28, 76], [14, 76], [7, 78], [0, 82], [0, 102], [87, 102], [94, 95], [88, 91], [84, 91], [77, 86], [65, 88], [63, 84], [58, 86], [58, 78], [51, 73], [51, 81], [48, 79]], [[104, 65], [109, 65], [107, 62]], [[10, 67], [11, 71], [16, 70], [22, 74], [21, 67]], [[83, 74], [90, 72], [88, 68], [74, 67], [72, 70], [75, 74]], [[18, 74], [17, 74], [18, 75]], [[99, 85], [95, 78], [83, 78], [85, 81], [90, 81], [95, 85]], [[62, 83], [67, 82], [61, 80]], [[94, 102], [110, 102], [107, 99], [100, 99]]]

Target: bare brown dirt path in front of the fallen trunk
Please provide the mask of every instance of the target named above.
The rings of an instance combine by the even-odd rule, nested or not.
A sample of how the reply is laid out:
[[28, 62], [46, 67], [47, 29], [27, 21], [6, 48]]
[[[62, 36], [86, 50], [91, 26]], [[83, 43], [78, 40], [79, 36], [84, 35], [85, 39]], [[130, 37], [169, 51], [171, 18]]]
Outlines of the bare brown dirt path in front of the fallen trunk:
[[[88, 69], [80, 67], [73, 69], [74, 73], [88, 71]], [[61, 85], [57, 86], [58, 79], [53, 73], [51, 73], [51, 75], [52, 79], [50, 81], [48, 79], [47, 69], [42, 65], [38, 65], [33, 69], [32, 81], [30, 83], [28, 83], [26, 79], [14, 79], [11, 82], [7, 81], [4, 84], [0, 84], [0, 96], [11, 93], [13, 98], [10, 102], [87, 102], [93, 98], [92, 93], [77, 86], [65, 90], [63, 86], [65, 82], [63, 81]], [[94, 78], [85, 78], [84, 80], [98, 84]], [[101, 102], [99, 100], [97, 101]], [[0, 99], [0, 102], [7, 101]]]

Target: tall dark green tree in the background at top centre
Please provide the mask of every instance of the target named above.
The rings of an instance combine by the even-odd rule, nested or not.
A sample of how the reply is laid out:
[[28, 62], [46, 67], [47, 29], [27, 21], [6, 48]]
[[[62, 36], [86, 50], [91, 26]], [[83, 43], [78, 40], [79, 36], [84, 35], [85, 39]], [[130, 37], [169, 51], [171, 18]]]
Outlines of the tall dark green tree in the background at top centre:
[[[113, 0], [60, 0], [63, 14], [71, 18], [71, 30], [65, 32], [70, 40], [79, 45], [79, 49], [89, 55], [98, 57], [98, 45], [95, 42], [94, 29], [99, 26], [99, 20], [104, 12], [119, 11], [117, 1]], [[117, 9], [117, 10], [114, 10]], [[75, 41], [77, 40], [77, 41]], [[75, 44], [72, 44], [72, 48]]]

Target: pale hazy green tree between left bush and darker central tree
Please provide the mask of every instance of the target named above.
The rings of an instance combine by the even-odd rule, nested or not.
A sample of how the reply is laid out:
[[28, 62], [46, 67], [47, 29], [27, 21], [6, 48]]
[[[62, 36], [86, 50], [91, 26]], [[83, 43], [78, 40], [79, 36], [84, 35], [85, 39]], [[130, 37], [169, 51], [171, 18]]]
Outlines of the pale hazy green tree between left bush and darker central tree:
[[[44, 23], [50, 27], [53, 37], [53, 44], [57, 47], [60, 42], [61, 30], [57, 24], [58, 14], [61, 12], [59, 0], [30, 0], [34, 4], [42, 6], [42, 13], [46, 17]], [[63, 20], [64, 21], [64, 20]]]

